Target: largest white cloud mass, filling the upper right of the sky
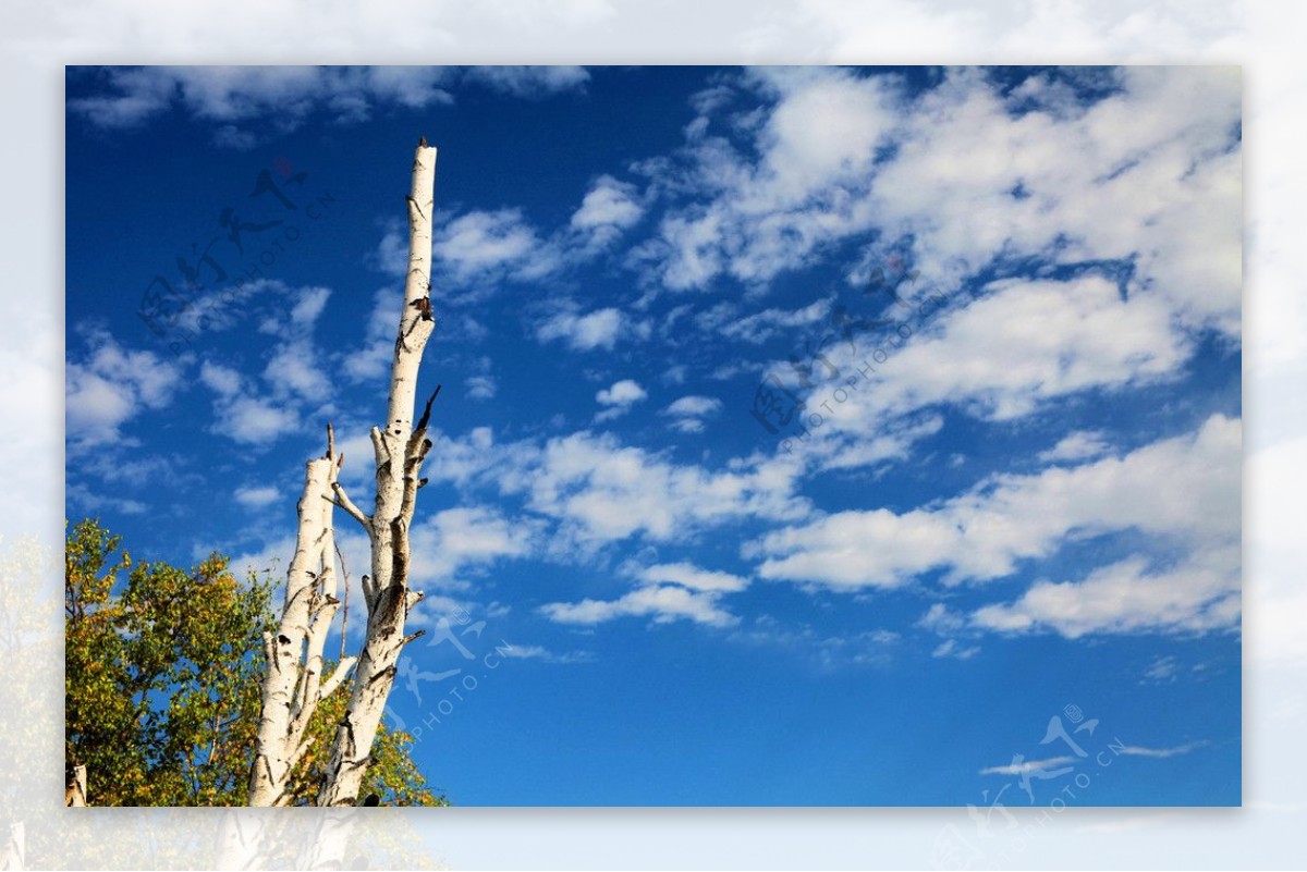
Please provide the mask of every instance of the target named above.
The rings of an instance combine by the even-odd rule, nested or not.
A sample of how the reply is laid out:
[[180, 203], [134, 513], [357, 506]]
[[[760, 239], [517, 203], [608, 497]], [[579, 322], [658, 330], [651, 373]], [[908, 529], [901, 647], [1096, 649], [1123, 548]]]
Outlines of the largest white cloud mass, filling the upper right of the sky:
[[[728, 87], [775, 101], [736, 131], [753, 137], [757, 157], [699, 125], [677, 157], [651, 162], [654, 189], [698, 197], [663, 217], [640, 262], [672, 288], [723, 274], [759, 285], [874, 228], [889, 247], [911, 240], [904, 253], [923, 272], [919, 287], [950, 294], [996, 258], [1081, 265], [1063, 282], [992, 283], [941, 317], [859, 385], [865, 390], [840, 406], [823, 441], [856, 445], [894, 415], [936, 403], [1009, 419], [1085, 389], [1172, 377], [1197, 330], [1238, 341], [1239, 80], [1192, 68], [1117, 78], [1120, 93], [1086, 110], [1052, 85], [1004, 97], [976, 69], [949, 70], [911, 99], [893, 76], [752, 72]], [[843, 132], [814, 136], [836, 129], [812, 125], [825, 117]], [[1129, 133], [1116, 136], [1123, 125]], [[886, 144], [895, 151], [873, 166]], [[880, 244], [864, 260], [884, 260]], [[1119, 272], [1084, 270], [1094, 262]], [[789, 315], [814, 317], [816, 305]], [[784, 315], [769, 309], [727, 329], [765, 338]], [[789, 375], [784, 362], [778, 369]]]

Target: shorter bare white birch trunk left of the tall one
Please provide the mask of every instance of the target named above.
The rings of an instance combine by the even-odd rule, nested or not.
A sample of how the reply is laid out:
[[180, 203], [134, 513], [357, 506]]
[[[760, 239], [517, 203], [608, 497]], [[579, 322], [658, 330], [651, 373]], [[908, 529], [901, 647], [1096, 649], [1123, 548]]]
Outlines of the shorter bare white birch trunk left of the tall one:
[[332, 486], [344, 457], [327, 426], [327, 454], [308, 461], [299, 497], [295, 556], [286, 570], [286, 602], [276, 633], [264, 633], [268, 671], [263, 680], [250, 804], [289, 803], [286, 785], [310, 739], [305, 738], [318, 704], [344, 680], [353, 658], [345, 658], [322, 680], [323, 645], [340, 600], [336, 599], [336, 538]]

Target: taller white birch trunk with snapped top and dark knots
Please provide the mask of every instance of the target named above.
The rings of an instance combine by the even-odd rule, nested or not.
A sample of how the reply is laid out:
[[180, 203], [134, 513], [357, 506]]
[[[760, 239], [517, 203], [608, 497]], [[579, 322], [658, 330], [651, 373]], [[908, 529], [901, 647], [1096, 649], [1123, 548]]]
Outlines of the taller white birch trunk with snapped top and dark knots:
[[337, 505], [367, 530], [372, 572], [371, 577], [362, 577], [367, 632], [349, 706], [336, 730], [325, 786], [318, 796], [319, 805], [356, 804], [386, 700], [395, 684], [400, 650], [421, 636], [404, 636], [404, 621], [409, 608], [422, 598], [422, 594], [408, 589], [409, 526], [417, 491], [426, 483], [426, 479], [418, 478], [431, 448], [431, 440], [426, 439], [426, 423], [431, 402], [440, 390], [437, 388], [426, 401], [422, 416], [414, 424], [418, 366], [435, 330], [430, 298], [434, 192], [435, 149], [427, 146], [423, 137], [413, 161], [413, 185], [408, 197], [409, 269], [395, 339], [386, 426], [372, 427], [371, 431], [376, 454], [376, 504], [372, 514], [361, 512], [339, 482], [331, 483]]

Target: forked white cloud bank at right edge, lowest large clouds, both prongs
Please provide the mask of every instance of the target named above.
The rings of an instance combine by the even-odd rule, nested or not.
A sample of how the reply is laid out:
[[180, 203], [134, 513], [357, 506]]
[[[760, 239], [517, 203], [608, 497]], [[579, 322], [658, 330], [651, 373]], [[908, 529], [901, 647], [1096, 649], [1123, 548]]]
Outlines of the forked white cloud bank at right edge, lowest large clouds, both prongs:
[[1140, 530], [1189, 543], [1188, 560], [1158, 569], [1133, 557], [1078, 582], [1039, 582], [1017, 603], [978, 610], [971, 623], [1069, 637], [1231, 627], [1239, 614], [1240, 441], [1239, 422], [1217, 415], [1192, 435], [1120, 459], [1002, 475], [902, 513], [840, 512], [771, 533], [745, 551], [765, 557], [765, 578], [889, 589], [937, 568], [951, 585], [1000, 578], [1021, 560], [1052, 553], [1072, 531]]

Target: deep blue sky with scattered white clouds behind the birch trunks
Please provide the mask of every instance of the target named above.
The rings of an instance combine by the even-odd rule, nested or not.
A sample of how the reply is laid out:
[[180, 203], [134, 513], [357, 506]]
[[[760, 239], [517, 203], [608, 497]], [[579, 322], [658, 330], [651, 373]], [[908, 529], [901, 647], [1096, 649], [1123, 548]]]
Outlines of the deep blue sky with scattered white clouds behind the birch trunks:
[[[439, 148], [429, 634], [392, 717], [455, 803], [1239, 803], [1236, 69], [74, 68], [67, 98], [68, 514], [178, 563], [284, 572], [327, 420], [367, 499]], [[179, 257], [203, 288], [145, 302], [161, 337]]]

